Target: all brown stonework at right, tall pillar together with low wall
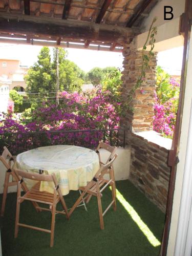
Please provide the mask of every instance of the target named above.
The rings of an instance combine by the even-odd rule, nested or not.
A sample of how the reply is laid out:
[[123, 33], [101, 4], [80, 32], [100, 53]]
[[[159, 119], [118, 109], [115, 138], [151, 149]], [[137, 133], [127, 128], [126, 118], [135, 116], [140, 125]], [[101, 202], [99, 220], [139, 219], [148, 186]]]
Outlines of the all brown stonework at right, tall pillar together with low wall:
[[[124, 44], [123, 50], [123, 103], [127, 95], [135, 86], [141, 75], [142, 52], [136, 50], [135, 39], [129, 44]], [[168, 150], [164, 147], [147, 141], [135, 132], [153, 131], [153, 105], [155, 101], [156, 84], [156, 53], [150, 60], [150, 68], [146, 71], [146, 78], [141, 87], [136, 91], [132, 101], [132, 111], [126, 110], [120, 120], [123, 128], [129, 129], [126, 144], [131, 146], [131, 182], [138, 187], [147, 198], [155, 203], [163, 212], [166, 209], [167, 191], [170, 168], [167, 166]]]

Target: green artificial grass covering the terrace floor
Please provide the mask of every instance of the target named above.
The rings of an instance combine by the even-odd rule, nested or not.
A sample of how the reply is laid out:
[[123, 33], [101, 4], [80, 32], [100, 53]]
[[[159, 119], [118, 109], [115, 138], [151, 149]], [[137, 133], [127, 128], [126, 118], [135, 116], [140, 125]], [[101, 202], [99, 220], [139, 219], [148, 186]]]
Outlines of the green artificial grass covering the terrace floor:
[[[147, 225], [158, 241], [161, 241], [164, 214], [130, 181], [118, 181], [116, 187], [123, 198], [134, 208], [140, 219]], [[78, 197], [78, 191], [70, 191], [65, 196], [68, 208]], [[1, 195], [2, 200], [2, 195]], [[105, 189], [102, 197], [103, 209], [111, 200], [110, 189]], [[153, 246], [117, 200], [117, 211], [111, 208], [104, 216], [104, 230], [100, 230], [97, 200], [92, 197], [88, 212], [84, 207], [77, 208], [68, 221], [63, 215], [56, 215], [53, 248], [49, 247], [50, 234], [19, 227], [14, 239], [16, 193], [8, 194], [5, 215], [1, 218], [3, 256], [91, 256], [91, 255], [159, 255], [160, 245]], [[57, 208], [61, 209], [58, 204]], [[51, 214], [42, 211], [37, 214], [30, 202], [24, 201], [20, 208], [21, 223], [50, 228]]]

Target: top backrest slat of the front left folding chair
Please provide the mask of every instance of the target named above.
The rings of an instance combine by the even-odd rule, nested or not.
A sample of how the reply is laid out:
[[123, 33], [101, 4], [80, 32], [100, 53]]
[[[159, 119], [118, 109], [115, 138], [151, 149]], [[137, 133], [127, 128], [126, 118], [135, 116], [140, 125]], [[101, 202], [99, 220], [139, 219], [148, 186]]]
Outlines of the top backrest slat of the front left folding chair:
[[51, 175], [44, 175], [44, 174], [34, 174], [34, 173], [28, 173], [24, 172], [23, 170], [19, 170], [17, 168], [14, 169], [14, 172], [17, 176], [29, 179], [29, 180], [35, 180], [35, 181], [51, 181], [55, 184], [55, 186], [58, 185], [57, 179], [55, 177], [55, 174]]

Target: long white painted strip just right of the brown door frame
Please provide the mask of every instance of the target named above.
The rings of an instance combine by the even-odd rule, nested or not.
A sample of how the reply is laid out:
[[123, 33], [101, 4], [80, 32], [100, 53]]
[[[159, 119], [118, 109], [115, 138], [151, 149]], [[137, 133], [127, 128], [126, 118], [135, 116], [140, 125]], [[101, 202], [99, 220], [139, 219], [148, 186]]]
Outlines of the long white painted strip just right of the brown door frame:
[[179, 218], [179, 208], [181, 201], [182, 185], [183, 185], [183, 175], [185, 167], [185, 158], [187, 153], [187, 140], [189, 133], [189, 116], [190, 108], [192, 101], [192, 33], [190, 37], [190, 46], [189, 46], [189, 58], [187, 65], [187, 75], [186, 75], [186, 88], [185, 88], [185, 98], [184, 98], [184, 108], [183, 108], [183, 117], [182, 117], [182, 126], [181, 126], [181, 138], [179, 144], [179, 163], [177, 165], [177, 176], [175, 183], [175, 192], [174, 192], [174, 201], [173, 201], [173, 212], [172, 212], [172, 221], [170, 223], [170, 232], [167, 248], [167, 256], [173, 256], [175, 250], [176, 234], [177, 234], [177, 225]]

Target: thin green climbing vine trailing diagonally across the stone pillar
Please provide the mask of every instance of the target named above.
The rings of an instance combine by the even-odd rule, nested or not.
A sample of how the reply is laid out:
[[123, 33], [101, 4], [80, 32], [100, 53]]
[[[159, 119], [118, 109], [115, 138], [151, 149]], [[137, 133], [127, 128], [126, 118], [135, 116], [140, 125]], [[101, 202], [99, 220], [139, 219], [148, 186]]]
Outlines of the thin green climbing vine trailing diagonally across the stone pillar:
[[[152, 25], [150, 27], [150, 30], [148, 31], [148, 35], [145, 41], [145, 44], [142, 49], [142, 66], [141, 66], [141, 74], [139, 78], [137, 79], [137, 82], [135, 86], [132, 88], [132, 90], [129, 92], [129, 95], [127, 96], [127, 108], [132, 110], [131, 107], [131, 102], [134, 98], [136, 90], [141, 86], [143, 80], [145, 79], [145, 71], [150, 67], [149, 62], [151, 57], [154, 56], [153, 49], [154, 49], [154, 44], [155, 44], [155, 35], [157, 34], [157, 27], [153, 27], [154, 23], [156, 22], [157, 18], [155, 17], [153, 19]], [[149, 46], [150, 46], [150, 51], [146, 52], [146, 46], [147, 42], [149, 41]]]

